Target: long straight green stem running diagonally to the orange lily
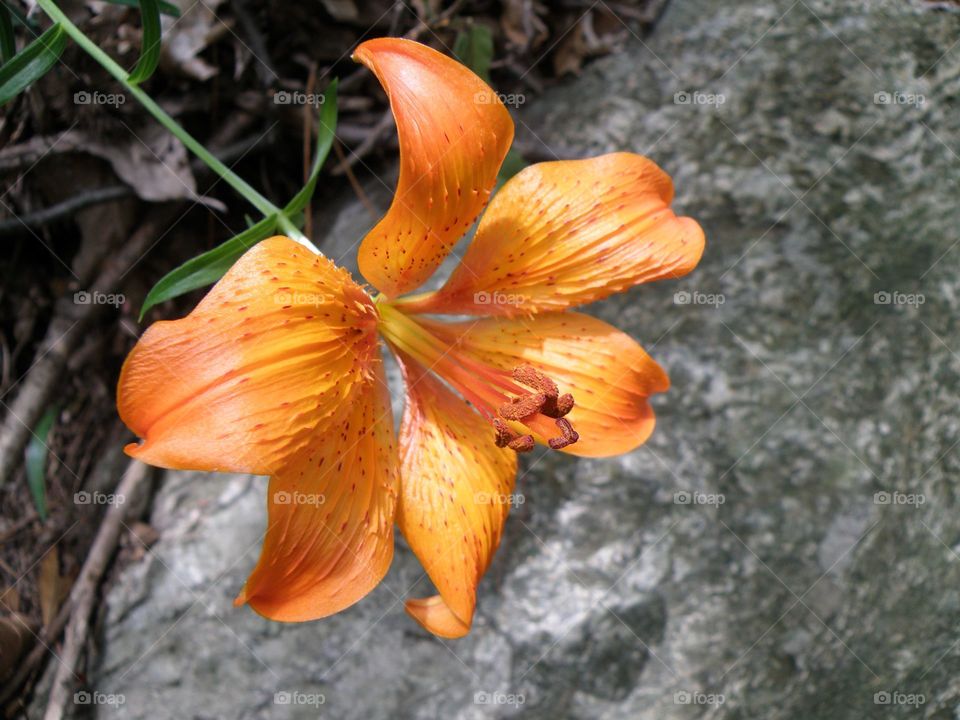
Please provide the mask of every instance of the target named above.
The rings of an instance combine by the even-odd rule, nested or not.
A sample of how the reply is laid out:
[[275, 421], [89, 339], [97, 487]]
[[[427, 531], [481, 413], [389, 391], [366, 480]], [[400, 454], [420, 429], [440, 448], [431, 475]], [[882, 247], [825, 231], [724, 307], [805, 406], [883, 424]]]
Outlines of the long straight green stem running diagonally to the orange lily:
[[37, 0], [37, 4], [55, 23], [59, 23], [64, 31], [74, 42], [87, 52], [94, 60], [100, 63], [104, 69], [113, 75], [127, 92], [140, 101], [147, 111], [157, 119], [161, 125], [169, 130], [173, 135], [190, 149], [190, 151], [202, 160], [211, 170], [219, 175], [230, 187], [240, 193], [251, 205], [263, 213], [264, 216], [276, 215], [278, 226], [297, 242], [306, 245], [314, 252], [317, 249], [300, 232], [300, 229], [283, 214], [283, 211], [258, 193], [243, 178], [234, 173], [230, 168], [215, 158], [196, 138], [183, 129], [180, 124], [174, 120], [167, 112], [160, 107], [147, 93], [141, 90], [137, 85], [128, 80], [129, 73], [124, 70], [113, 58], [101, 50], [96, 43], [83, 34], [70, 18], [59, 8], [53, 0]]

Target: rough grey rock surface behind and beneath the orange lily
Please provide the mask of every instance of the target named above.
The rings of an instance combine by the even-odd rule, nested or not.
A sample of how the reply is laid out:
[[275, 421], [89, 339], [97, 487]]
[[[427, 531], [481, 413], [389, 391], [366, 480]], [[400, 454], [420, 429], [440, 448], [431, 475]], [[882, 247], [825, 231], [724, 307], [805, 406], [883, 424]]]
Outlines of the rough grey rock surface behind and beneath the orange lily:
[[[151, 719], [960, 717], [960, 15], [930, 5], [677, 0], [516, 113], [656, 159], [708, 250], [591, 308], [669, 371], [658, 429], [534, 453], [468, 638], [406, 617], [402, 541], [341, 615], [233, 609], [265, 481], [173, 473], [93, 689]], [[370, 219], [328, 225], [347, 259]]]

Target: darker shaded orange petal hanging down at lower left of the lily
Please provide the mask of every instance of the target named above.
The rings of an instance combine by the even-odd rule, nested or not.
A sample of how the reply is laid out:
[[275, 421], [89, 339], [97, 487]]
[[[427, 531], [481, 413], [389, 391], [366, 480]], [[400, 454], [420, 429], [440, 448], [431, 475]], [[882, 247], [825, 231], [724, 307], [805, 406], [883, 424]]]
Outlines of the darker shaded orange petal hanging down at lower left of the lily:
[[263, 550], [236, 604], [271, 620], [313, 620], [355, 603], [389, 569], [399, 474], [376, 364], [336, 426], [270, 479]]

